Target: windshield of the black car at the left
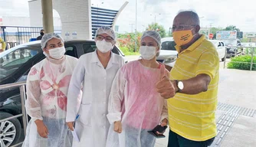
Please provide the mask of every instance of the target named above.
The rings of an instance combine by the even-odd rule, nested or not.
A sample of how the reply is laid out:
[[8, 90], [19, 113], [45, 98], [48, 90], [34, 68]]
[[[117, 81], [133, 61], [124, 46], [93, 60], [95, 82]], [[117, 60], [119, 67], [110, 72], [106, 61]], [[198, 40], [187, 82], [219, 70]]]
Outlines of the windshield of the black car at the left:
[[41, 47], [20, 47], [0, 58], [0, 80], [15, 73], [19, 67], [41, 51]]

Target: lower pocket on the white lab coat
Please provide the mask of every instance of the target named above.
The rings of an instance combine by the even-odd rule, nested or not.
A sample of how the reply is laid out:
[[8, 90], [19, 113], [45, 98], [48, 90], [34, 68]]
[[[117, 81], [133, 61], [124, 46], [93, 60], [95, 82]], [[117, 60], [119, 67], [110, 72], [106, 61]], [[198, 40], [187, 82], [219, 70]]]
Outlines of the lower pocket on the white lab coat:
[[80, 104], [80, 109], [79, 109], [79, 121], [85, 126], [90, 126], [90, 118], [91, 118], [91, 104]]

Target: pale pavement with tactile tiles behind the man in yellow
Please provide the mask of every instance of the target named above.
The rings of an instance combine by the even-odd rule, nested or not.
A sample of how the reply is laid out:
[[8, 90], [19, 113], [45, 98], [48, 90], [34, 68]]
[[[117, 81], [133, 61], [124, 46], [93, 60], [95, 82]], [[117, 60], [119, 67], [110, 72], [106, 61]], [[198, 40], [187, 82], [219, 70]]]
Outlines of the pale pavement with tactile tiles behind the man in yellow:
[[[216, 123], [218, 136], [211, 147], [256, 147], [255, 71], [220, 69]], [[168, 131], [165, 135], [156, 147], [167, 146]]]

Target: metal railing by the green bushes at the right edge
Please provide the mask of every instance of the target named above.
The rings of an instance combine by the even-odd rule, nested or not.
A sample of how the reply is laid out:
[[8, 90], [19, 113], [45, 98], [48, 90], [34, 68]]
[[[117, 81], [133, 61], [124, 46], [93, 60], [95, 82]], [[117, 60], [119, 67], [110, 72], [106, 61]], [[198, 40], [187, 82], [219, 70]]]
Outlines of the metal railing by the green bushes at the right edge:
[[[242, 47], [242, 49], [240, 49], [241, 51], [235, 51], [235, 54], [232, 53], [228, 53], [227, 48], [238, 48], [238, 47], [225, 47], [225, 59], [224, 59], [224, 68], [226, 67], [226, 63], [227, 63], [227, 55], [228, 57], [232, 57], [232, 56], [243, 56], [243, 55], [251, 55], [251, 61], [250, 62], [242, 62], [242, 61], [228, 61], [228, 62], [232, 62], [232, 63], [238, 63], [238, 64], [250, 64], [250, 71], [252, 70], [252, 67], [254, 64], [254, 56], [256, 56], [256, 47]], [[240, 47], [241, 48], [241, 47]]]

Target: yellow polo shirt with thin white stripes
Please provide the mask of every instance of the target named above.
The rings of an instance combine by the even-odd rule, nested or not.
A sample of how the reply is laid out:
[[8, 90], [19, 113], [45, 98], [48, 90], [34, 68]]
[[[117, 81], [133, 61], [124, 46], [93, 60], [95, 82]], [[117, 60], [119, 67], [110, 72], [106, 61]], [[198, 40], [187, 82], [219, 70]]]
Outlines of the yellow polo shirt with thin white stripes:
[[[180, 51], [179, 47], [176, 49]], [[206, 92], [195, 95], [176, 93], [176, 96], [168, 100], [169, 126], [172, 132], [194, 141], [205, 141], [216, 136], [218, 70], [218, 53], [204, 35], [179, 53], [170, 72], [171, 80], [188, 80], [205, 73], [211, 77], [211, 82]]]

